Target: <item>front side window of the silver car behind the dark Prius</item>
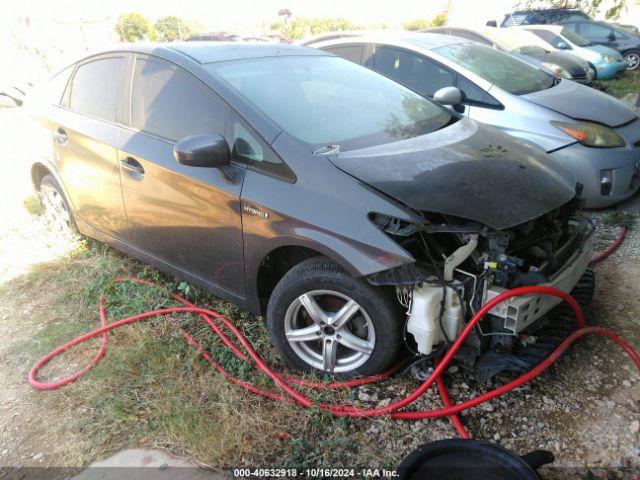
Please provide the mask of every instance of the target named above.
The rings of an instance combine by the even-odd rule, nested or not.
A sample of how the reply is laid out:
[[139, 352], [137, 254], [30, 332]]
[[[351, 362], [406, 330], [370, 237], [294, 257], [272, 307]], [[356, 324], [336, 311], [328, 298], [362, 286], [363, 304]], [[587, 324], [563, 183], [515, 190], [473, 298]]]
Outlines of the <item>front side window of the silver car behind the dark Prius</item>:
[[455, 85], [455, 76], [431, 60], [404, 50], [377, 47], [374, 69], [423, 96], [433, 96], [442, 87]]

